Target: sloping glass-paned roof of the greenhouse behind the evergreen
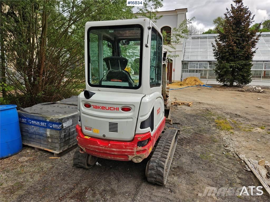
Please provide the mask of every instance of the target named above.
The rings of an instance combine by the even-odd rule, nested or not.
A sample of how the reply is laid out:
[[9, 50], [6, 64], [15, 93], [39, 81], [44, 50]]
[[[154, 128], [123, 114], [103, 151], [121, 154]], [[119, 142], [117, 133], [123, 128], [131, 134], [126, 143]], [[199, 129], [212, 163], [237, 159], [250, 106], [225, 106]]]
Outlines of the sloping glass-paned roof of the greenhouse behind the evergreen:
[[[216, 61], [212, 47], [216, 37], [218, 34], [189, 35], [185, 41], [183, 61]], [[270, 32], [261, 33], [256, 48], [254, 61], [270, 61]]]

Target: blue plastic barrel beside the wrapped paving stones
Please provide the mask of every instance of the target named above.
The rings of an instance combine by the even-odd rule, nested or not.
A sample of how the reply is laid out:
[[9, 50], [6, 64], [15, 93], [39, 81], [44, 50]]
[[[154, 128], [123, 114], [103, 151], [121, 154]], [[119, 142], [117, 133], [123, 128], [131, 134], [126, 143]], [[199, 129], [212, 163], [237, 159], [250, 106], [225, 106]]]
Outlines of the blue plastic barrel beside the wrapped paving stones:
[[22, 150], [22, 136], [16, 105], [0, 105], [0, 158]]

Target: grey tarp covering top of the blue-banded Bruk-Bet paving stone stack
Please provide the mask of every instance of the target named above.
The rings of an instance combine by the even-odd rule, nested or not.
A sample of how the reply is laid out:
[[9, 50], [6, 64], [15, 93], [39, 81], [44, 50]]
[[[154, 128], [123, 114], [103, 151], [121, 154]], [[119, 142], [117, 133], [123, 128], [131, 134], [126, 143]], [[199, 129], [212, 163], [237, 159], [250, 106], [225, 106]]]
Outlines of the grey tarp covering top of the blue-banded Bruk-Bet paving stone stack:
[[20, 108], [23, 112], [29, 114], [38, 114], [41, 116], [59, 116], [68, 115], [77, 112], [77, 106], [65, 105], [56, 102], [47, 102], [34, 105], [32, 107], [27, 107], [25, 109]]

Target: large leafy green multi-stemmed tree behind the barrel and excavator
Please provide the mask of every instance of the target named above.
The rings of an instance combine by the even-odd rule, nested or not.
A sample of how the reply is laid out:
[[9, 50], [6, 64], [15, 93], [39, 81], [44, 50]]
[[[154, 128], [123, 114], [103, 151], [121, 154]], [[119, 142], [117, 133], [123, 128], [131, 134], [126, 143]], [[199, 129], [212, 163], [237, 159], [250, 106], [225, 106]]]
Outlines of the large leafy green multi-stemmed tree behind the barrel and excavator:
[[[136, 18], [134, 7], [124, 0], [1, 0], [0, 4], [1, 85], [14, 90], [1, 89], [3, 96], [23, 107], [69, 97], [84, 88], [87, 21]], [[146, 15], [160, 6], [161, 0], [147, 0], [138, 13]]]

